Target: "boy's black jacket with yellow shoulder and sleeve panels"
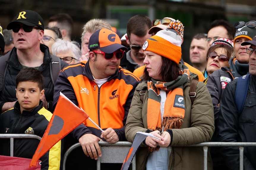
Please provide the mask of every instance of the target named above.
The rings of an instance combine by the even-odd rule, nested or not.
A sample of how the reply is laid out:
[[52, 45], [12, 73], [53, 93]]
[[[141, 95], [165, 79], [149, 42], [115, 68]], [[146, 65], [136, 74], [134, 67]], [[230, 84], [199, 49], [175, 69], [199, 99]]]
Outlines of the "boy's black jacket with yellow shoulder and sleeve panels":
[[[52, 115], [42, 106], [42, 101], [31, 111], [23, 111], [21, 114], [20, 105], [17, 101], [14, 108], [0, 115], [0, 133], [34, 134], [42, 137]], [[37, 139], [15, 139], [14, 156], [31, 159], [39, 142]], [[0, 143], [0, 155], [10, 156], [10, 139], [0, 139]], [[39, 159], [42, 161], [41, 169], [59, 170], [60, 159], [61, 141]]]

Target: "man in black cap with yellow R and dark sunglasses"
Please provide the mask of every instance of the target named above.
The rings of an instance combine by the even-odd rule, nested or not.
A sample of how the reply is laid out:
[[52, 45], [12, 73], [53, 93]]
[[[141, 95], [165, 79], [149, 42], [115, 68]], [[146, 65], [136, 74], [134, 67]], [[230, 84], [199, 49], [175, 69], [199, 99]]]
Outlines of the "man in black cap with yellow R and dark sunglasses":
[[[18, 13], [7, 25], [12, 30], [14, 48], [1, 57], [0, 64], [0, 109], [4, 112], [13, 108], [17, 101], [15, 94], [15, 77], [21, 69], [33, 67], [41, 71], [45, 78], [45, 98], [43, 106], [51, 111], [53, 101], [54, 79], [58, 71], [68, 64], [50, 55], [49, 48], [40, 44], [44, 36], [44, 21], [35, 11], [24, 10]], [[6, 64], [3, 63], [6, 61]], [[55, 61], [55, 62], [53, 62]], [[55, 69], [57, 68], [57, 69]], [[52, 71], [53, 70], [53, 71]]]

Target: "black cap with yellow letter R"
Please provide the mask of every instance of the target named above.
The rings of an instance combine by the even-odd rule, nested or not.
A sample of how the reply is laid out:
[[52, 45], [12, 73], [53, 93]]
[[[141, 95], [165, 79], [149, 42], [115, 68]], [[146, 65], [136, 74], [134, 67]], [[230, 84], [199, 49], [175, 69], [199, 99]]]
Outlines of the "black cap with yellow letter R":
[[19, 22], [28, 26], [38, 26], [41, 30], [44, 30], [45, 27], [44, 20], [37, 12], [24, 10], [19, 12], [14, 20], [7, 25], [7, 30], [11, 30]]

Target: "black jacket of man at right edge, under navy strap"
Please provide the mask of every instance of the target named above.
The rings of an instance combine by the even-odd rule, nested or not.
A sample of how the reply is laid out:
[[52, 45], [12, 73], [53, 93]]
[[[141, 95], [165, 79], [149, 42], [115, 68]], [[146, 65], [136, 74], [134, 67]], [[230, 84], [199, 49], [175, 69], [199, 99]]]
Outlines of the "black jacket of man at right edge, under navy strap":
[[[228, 83], [220, 100], [217, 135], [220, 142], [256, 142], [256, 76], [250, 76], [249, 88], [241, 115], [235, 104], [237, 80]], [[221, 148], [229, 169], [239, 169], [239, 147]], [[244, 169], [256, 169], [256, 147], [244, 148]]]

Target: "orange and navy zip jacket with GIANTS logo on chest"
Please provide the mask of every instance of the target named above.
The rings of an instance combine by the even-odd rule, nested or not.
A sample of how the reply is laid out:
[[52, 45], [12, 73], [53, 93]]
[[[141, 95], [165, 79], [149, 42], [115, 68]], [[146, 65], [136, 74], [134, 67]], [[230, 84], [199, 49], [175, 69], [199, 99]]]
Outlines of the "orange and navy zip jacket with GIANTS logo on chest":
[[[99, 88], [94, 82], [89, 62], [82, 61], [65, 67], [59, 73], [54, 87], [53, 107], [55, 108], [61, 92], [78, 107], [83, 108], [99, 127], [103, 130], [113, 128], [119, 141], [124, 141], [124, 125], [139, 82], [131, 72], [119, 67]], [[89, 119], [72, 131], [76, 139], [86, 133], [97, 137], [101, 135], [101, 131]]]

